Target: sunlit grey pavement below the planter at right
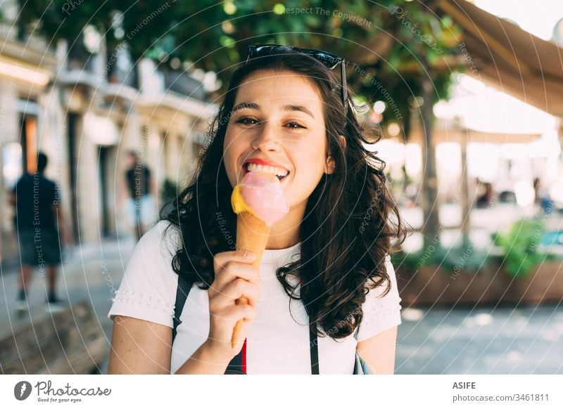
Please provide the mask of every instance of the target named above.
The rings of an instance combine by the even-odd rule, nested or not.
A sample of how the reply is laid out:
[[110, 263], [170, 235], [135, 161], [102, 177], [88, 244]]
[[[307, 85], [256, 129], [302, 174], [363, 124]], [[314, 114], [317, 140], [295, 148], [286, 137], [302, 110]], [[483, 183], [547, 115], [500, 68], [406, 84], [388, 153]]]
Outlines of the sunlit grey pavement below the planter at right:
[[563, 302], [403, 309], [398, 374], [563, 374]]

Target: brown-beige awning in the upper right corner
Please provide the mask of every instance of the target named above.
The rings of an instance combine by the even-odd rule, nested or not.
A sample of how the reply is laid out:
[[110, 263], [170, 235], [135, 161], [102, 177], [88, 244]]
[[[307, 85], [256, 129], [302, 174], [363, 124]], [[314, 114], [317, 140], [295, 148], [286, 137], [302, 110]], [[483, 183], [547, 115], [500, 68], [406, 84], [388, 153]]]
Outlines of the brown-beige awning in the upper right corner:
[[562, 48], [464, 0], [434, 0], [428, 5], [463, 28], [460, 51], [468, 74], [563, 117]]

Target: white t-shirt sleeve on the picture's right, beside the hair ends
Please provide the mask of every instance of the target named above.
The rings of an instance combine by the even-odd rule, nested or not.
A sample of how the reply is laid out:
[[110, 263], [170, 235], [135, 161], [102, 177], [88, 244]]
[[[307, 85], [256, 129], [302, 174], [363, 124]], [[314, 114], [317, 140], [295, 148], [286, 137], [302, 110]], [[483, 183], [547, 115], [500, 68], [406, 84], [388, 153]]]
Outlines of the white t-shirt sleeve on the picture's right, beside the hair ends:
[[379, 332], [388, 330], [401, 323], [400, 297], [395, 268], [391, 264], [391, 257], [387, 256], [385, 258], [385, 266], [391, 280], [391, 289], [384, 296], [381, 296], [381, 294], [386, 289], [385, 285], [369, 290], [362, 306], [364, 318], [356, 335], [358, 342], [365, 341], [365, 339], [369, 339], [379, 334]]

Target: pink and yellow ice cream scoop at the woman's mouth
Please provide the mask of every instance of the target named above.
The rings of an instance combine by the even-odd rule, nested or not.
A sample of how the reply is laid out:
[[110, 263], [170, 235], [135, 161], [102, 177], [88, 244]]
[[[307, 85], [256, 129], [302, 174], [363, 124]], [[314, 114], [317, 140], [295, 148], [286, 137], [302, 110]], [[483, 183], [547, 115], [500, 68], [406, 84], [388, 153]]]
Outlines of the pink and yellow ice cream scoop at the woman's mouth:
[[268, 226], [273, 226], [289, 212], [289, 204], [277, 176], [260, 171], [250, 171], [232, 195], [234, 212], [251, 212]]

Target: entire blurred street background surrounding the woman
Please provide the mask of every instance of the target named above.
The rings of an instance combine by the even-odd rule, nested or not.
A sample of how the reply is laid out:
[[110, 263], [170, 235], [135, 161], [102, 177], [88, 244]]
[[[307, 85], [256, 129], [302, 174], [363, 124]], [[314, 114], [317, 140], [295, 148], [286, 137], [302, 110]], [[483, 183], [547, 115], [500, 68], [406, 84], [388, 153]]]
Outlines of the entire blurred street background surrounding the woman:
[[[410, 226], [396, 372], [563, 373], [561, 1], [5, 0], [0, 42], [0, 372], [105, 372], [139, 233], [189, 181], [248, 45], [288, 44], [343, 56], [381, 132], [365, 146]], [[38, 214], [62, 262], [26, 270]]]

